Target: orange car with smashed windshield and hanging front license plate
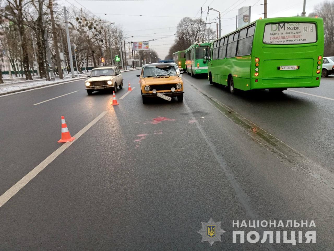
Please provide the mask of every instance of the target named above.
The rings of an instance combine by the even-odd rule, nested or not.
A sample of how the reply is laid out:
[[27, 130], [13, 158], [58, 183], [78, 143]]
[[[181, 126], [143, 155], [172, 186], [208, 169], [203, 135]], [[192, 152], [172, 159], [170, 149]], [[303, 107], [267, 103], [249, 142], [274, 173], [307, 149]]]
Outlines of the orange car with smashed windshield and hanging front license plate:
[[183, 101], [183, 81], [177, 75], [173, 64], [144, 65], [141, 75], [137, 75], [137, 77], [140, 78], [139, 83], [144, 104], [151, 97], [160, 97], [169, 101], [171, 97], [177, 97], [177, 101]]

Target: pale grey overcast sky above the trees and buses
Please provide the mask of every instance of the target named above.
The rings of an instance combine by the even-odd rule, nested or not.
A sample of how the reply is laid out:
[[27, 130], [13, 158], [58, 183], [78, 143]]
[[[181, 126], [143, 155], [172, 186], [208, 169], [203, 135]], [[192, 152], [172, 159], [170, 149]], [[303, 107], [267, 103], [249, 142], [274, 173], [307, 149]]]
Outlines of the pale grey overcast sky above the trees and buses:
[[[306, 15], [323, 1], [325, 0], [307, 0]], [[204, 20], [208, 4], [221, 12], [223, 35], [235, 29], [235, 16], [242, 6], [254, 5], [251, 21], [263, 17], [263, 14], [260, 15], [264, 12], [263, 5], [260, 5], [263, 2], [263, 0], [61, 0], [59, 3], [65, 6], [73, 4], [78, 8], [83, 5], [96, 16], [122, 25], [128, 41], [157, 39], [150, 42], [150, 48], [156, 50], [160, 58], [165, 58], [175, 38], [175, 26], [183, 17], [199, 17], [201, 6]], [[303, 0], [268, 0], [268, 17], [295, 16], [301, 14], [302, 10]], [[217, 22], [215, 19], [217, 16], [218, 12], [209, 11], [208, 21]], [[215, 23], [210, 26], [216, 29]]]

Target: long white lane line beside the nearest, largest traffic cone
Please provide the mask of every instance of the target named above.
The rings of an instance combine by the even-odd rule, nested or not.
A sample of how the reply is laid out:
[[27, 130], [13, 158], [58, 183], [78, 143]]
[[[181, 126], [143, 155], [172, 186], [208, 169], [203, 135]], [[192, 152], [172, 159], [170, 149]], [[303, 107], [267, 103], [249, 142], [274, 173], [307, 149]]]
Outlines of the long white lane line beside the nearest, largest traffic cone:
[[11, 197], [13, 197], [22, 187], [24, 187], [30, 180], [32, 180], [39, 172], [41, 172], [48, 164], [50, 164], [56, 157], [58, 157], [63, 151], [65, 151], [70, 145], [72, 145], [82, 134], [84, 134], [88, 129], [90, 129], [97, 121], [99, 121], [107, 111], [102, 112], [99, 116], [94, 118], [87, 126], [82, 128], [71, 142], [64, 143], [61, 147], [55, 150], [51, 155], [49, 155], [45, 160], [38, 164], [34, 169], [32, 169], [28, 174], [26, 174], [22, 179], [20, 179], [15, 185], [9, 188], [0, 196], [0, 207], [3, 206]]

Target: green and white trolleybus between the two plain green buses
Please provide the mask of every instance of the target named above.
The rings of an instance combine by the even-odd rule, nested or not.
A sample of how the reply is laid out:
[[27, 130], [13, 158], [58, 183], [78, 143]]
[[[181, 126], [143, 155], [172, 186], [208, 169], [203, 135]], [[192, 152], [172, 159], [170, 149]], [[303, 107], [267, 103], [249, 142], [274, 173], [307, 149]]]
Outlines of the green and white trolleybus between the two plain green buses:
[[192, 77], [196, 74], [207, 74], [208, 66], [206, 57], [210, 50], [211, 43], [194, 43], [186, 52], [186, 72]]

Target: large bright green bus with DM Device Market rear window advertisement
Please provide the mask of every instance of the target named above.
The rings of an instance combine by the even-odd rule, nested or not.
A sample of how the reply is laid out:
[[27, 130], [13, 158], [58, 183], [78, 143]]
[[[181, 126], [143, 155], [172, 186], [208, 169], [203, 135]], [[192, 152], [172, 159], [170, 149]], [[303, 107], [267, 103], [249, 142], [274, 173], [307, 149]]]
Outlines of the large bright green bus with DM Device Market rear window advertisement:
[[231, 93], [319, 87], [323, 53], [322, 18], [259, 19], [214, 40], [208, 79]]

